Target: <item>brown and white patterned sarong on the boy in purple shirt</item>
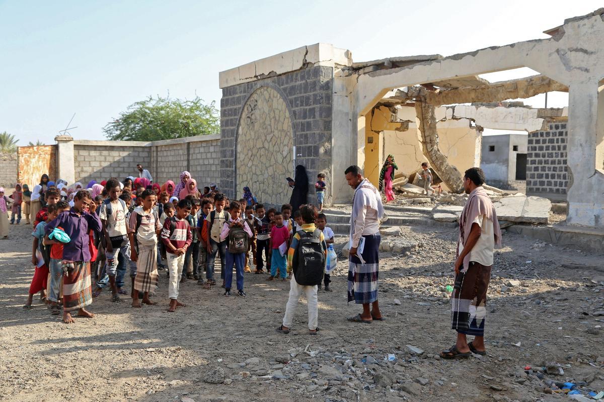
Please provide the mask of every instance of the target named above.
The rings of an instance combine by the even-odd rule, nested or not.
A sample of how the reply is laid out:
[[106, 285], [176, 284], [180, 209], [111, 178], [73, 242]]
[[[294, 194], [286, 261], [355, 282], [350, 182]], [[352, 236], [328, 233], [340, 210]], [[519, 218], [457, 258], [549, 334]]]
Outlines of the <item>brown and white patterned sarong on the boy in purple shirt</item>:
[[83, 309], [91, 303], [90, 263], [63, 264], [63, 311]]

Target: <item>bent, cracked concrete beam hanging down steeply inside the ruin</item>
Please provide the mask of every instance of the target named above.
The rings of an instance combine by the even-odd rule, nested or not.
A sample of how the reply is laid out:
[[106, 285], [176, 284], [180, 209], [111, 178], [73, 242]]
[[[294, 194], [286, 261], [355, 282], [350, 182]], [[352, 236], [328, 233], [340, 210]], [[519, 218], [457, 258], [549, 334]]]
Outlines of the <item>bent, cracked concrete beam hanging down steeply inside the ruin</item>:
[[423, 154], [428, 159], [431, 168], [452, 192], [463, 192], [463, 181], [460, 171], [450, 165], [447, 157], [439, 149], [439, 133], [436, 128], [434, 105], [427, 104], [420, 96], [416, 97], [416, 113], [419, 118], [419, 130], [422, 134]]

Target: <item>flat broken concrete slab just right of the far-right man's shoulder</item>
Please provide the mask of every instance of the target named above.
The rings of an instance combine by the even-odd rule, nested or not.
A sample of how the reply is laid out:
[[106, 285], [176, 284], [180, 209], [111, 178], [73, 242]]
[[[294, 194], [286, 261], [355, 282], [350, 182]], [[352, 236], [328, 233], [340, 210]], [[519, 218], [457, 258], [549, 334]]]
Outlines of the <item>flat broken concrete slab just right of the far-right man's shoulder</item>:
[[493, 205], [501, 221], [547, 223], [550, 218], [551, 201], [547, 198], [516, 195]]

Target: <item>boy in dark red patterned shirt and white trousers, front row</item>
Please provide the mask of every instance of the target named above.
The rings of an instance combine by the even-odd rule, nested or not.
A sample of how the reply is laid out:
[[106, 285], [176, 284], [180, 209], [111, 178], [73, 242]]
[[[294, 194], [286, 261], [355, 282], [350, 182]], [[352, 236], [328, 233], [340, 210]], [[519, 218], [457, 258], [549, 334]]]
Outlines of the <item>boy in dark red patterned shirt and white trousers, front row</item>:
[[176, 207], [176, 215], [166, 218], [161, 230], [161, 241], [165, 246], [165, 256], [168, 262], [170, 283], [168, 285], [168, 297], [170, 297], [170, 313], [176, 311], [176, 307], [185, 307], [178, 301], [178, 289], [181, 283], [182, 267], [185, 264], [185, 253], [193, 242], [191, 227], [187, 216], [191, 213], [191, 203], [188, 199], [181, 199]]

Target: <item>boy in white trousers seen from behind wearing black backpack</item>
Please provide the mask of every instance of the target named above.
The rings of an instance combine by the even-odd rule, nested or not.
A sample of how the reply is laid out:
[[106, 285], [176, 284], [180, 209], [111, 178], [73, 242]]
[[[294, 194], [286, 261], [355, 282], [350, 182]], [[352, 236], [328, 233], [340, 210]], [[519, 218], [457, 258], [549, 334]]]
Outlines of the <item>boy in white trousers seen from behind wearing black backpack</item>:
[[317, 286], [323, 280], [327, 262], [327, 243], [323, 232], [315, 227], [316, 207], [303, 205], [299, 209], [303, 225], [292, 238], [288, 251], [288, 266], [294, 271], [289, 285], [289, 300], [283, 317], [283, 324], [277, 328], [280, 333], [289, 333], [294, 321], [294, 310], [301, 294], [308, 301], [308, 329], [311, 335], [319, 331]]

